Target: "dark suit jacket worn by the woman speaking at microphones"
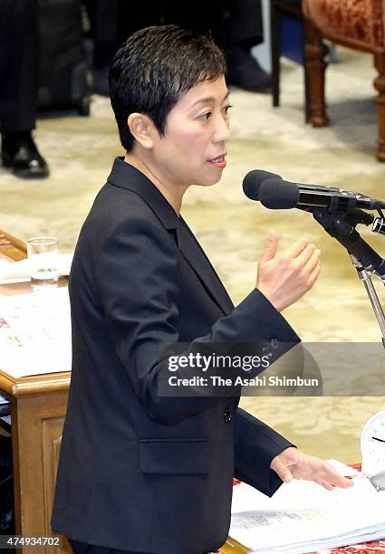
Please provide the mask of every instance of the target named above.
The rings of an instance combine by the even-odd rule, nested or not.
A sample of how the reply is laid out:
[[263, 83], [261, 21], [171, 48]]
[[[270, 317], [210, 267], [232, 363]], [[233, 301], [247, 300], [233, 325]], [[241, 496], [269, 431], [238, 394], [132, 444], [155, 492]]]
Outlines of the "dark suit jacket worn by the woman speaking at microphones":
[[273, 494], [269, 464], [291, 444], [238, 397], [158, 396], [159, 344], [298, 337], [259, 291], [234, 308], [188, 225], [120, 158], [83, 224], [70, 296], [53, 530], [115, 549], [217, 549], [233, 475]]

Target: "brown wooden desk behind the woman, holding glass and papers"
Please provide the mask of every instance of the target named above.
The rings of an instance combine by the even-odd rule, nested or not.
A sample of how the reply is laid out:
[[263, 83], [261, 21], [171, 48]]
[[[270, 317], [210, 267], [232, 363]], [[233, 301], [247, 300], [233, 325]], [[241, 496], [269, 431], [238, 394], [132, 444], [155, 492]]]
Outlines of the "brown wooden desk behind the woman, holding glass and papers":
[[[0, 255], [22, 260], [25, 244], [0, 230]], [[29, 283], [0, 285], [3, 294], [29, 290]], [[70, 376], [68, 371], [14, 378], [0, 368], [0, 390], [11, 401], [17, 535], [53, 535], [49, 522]], [[27, 554], [31, 550], [18, 551]], [[68, 545], [61, 550], [34, 549], [36, 554], [71, 551]]]

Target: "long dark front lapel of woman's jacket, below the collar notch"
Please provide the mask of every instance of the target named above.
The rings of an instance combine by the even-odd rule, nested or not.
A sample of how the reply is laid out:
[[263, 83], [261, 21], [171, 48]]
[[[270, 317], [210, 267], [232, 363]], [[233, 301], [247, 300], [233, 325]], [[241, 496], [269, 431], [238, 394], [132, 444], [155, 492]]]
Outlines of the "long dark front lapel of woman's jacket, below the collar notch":
[[217, 272], [209, 262], [206, 253], [182, 217], [180, 217], [177, 234], [180, 252], [197, 274], [198, 279], [203, 283], [209, 296], [217, 302], [219, 308], [227, 315], [233, 310], [234, 304], [217, 276]]

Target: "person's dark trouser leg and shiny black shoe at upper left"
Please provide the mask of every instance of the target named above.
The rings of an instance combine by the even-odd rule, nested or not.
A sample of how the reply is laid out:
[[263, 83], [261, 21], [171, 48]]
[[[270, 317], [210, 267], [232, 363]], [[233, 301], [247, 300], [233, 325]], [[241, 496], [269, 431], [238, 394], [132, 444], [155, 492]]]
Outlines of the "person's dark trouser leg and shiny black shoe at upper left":
[[39, 60], [37, 0], [0, 1], [0, 129], [3, 167], [16, 177], [49, 175], [32, 134]]

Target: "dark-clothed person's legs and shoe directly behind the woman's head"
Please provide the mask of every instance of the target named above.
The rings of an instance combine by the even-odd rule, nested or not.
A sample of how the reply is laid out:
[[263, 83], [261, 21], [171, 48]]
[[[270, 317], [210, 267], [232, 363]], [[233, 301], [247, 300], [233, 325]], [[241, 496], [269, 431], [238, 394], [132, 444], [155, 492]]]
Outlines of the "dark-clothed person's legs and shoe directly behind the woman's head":
[[135, 5], [124, 0], [83, 0], [93, 39], [94, 91], [109, 95], [108, 70], [120, 43], [148, 25], [179, 24], [210, 33], [224, 50], [227, 82], [245, 91], [268, 91], [271, 78], [251, 54], [264, 42], [261, 0], [197, 0], [189, 8], [176, 0]]

